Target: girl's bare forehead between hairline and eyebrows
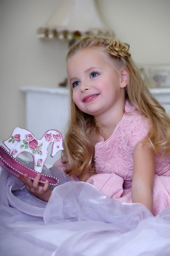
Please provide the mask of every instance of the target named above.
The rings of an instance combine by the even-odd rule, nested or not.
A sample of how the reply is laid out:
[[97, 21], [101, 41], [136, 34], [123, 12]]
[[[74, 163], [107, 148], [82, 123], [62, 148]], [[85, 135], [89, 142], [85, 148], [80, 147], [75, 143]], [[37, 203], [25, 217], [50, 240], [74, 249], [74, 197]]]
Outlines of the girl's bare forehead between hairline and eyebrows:
[[97, 65], [110, 62], [111, 57], [109, 53], [101, 48], [84, 48], [77, 51], [70, 59], [67, 61], [67, 68], [79, 65]]

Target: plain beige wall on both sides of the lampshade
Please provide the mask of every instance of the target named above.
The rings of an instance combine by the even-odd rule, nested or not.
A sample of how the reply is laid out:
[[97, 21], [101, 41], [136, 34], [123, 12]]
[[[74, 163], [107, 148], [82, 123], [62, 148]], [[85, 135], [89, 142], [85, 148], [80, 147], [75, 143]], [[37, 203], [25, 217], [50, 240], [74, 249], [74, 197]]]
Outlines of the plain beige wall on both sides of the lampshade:
[[[25, 96], [19, 88], [56, 87], [66, 77], [67, 42], [44, 42], [36, 38], [36, 29], [48, 20], [60, 1], [0, 1], [0, 138], [3, 140], [16, 126], [26, 128]], [[130, 44], [137, 63], [170, 63], [169, 0], [96, 2], [118, 39]], [[32, 104], [41, 108], [44, 102], [37, 98]]]

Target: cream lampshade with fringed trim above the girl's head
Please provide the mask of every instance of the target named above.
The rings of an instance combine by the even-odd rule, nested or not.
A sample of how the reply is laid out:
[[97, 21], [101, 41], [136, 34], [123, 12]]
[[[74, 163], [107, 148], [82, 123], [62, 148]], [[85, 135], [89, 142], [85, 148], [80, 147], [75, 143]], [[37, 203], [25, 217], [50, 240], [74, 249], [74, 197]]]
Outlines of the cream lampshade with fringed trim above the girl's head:
[[114, 36], [101, 20], [95, 0], [62, 0], [54, 15], [37, 30], [38, 38], [68, 41], [89, 34]]

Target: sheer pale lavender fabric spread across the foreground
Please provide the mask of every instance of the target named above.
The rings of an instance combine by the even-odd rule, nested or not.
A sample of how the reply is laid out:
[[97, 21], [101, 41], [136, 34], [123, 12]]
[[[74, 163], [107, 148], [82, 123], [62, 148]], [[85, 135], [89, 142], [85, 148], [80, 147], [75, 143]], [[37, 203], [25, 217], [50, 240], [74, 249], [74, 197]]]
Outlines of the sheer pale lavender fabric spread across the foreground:
[[170, 255], [170, 207], [154, 217], [51, 171], [63, 184], [45, 203], [0, 167], [0, 255]]

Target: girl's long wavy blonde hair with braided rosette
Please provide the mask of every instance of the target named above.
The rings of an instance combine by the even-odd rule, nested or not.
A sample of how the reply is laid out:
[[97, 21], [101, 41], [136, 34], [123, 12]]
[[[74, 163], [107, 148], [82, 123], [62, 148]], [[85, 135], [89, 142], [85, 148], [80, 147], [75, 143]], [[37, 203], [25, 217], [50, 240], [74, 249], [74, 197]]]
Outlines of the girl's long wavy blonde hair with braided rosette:
[[[146, 81], [142, 79], [139, 67], [129, 53], [129, 45], [115, 41], [113, 38], [85, 37], [68, 49], [66, 60], [84, 48], [100, 48], [109, 54], [116, 70], [125, 66], [129, 70], [129, 82], [125, 88], [125, 99], [129, 100], [150, 122], [147, 142], [155, 153], [160, 156], [170, 154], [170, 118], [165, 109], [152, 96]], [[68, 122], [68, 133], [64, 139], [65, 150], [62, 153], [63, 163], [69, 162], [70, 168], [65, 172], [69, 175], [80, 175], [82, 172], [95, 173], [95, 137], [91, 127], [98, 127], [94, 117], [77, 108], [72, 99], [70, 86], [71, 113]]]

